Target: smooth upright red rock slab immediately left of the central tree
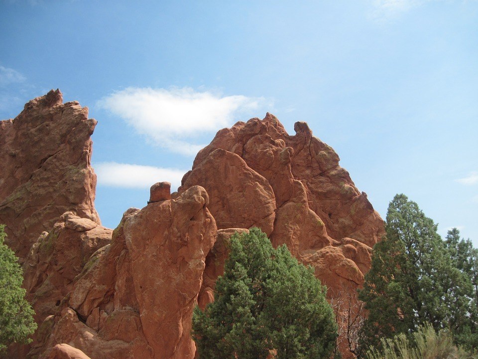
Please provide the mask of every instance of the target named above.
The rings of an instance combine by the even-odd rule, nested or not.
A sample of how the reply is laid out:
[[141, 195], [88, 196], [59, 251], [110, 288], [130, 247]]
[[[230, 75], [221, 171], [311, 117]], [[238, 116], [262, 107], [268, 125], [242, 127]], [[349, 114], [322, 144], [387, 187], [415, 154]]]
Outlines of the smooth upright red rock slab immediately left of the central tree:
[[124, 225], [141, 323], [155, 358], [194, 358], [192, 311], [217, 231], [208, 204], [206, 190], [193, 186], [174, 200], [149, 204]]

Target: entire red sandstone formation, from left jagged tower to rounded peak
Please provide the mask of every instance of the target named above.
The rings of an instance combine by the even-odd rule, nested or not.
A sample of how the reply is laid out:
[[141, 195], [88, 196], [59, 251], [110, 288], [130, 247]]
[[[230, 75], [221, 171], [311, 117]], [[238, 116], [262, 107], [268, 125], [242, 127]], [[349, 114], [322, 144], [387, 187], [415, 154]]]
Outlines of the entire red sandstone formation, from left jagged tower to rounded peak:
[[228, 238], [251, 226], [314, 266], [339, 313], [353, 304], [343, 293], [362, 284], [383, 222], [305, 123], [290, 136], [267, 114], [219, 131], [177, 192], [154, 184], [112, 231], [93, 203], [96, 121], [61, 101], [51, 91], [0, 127], [0, 222], [39, 324], [13, 358], [194, 358], [192, 310], [214, 300]]

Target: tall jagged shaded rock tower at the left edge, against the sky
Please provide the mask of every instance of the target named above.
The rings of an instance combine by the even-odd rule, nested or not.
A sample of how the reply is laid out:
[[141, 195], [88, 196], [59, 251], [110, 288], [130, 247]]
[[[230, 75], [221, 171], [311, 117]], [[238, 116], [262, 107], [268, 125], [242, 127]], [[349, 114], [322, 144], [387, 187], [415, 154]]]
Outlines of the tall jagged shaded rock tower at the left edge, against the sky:
[[0, 122], [0, 223], [20, 262], [64, 212], [100, 224], [90, 164], [97, 122], [88, 119], [88, 108], [62, 101], [61, 92], [51, 90]]

